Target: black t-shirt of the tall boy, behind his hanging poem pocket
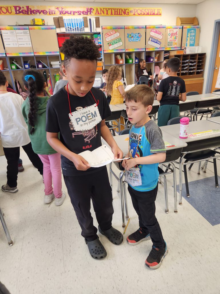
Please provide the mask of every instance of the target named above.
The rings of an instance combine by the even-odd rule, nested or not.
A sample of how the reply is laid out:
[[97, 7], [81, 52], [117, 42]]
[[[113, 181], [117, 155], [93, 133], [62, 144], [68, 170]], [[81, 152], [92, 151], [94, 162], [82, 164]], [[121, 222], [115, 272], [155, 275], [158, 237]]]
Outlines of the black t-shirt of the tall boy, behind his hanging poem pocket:
[[[97, 89], [91, 89], [93, 96], [98, 103], [99, 113], [102, 119], [111, 115], [111, 110], [107, 103], [105, 94]], [[76, 132], [69, 118], [70, 107], [71, 111], [76, 111], [77, 107], [91, 106], [95, 103], [92, 94], [89, 92], [84, 97], [73, 96], [69, 94], [70, 106], [68, 102], [67, 91], [63, 87], [55, 95], [53, 95], [47, 103], [46, 112], [46, 131], [50, 133], [60, 132], [60, 141], [70, 151], [78, 154], [83, 151], [94, 149], [101, 146], [101, 122], [89, 131]], [[61, 155], [62, 173], [65, 176], [82, 176], [89, 173], [98, 172], [104, 167], [89, 168], [87, 171], [78, 171], [74, 163], [65, 156]]]

